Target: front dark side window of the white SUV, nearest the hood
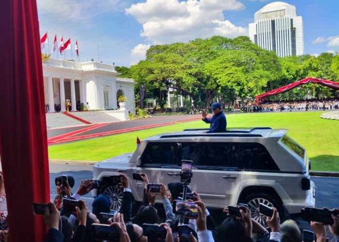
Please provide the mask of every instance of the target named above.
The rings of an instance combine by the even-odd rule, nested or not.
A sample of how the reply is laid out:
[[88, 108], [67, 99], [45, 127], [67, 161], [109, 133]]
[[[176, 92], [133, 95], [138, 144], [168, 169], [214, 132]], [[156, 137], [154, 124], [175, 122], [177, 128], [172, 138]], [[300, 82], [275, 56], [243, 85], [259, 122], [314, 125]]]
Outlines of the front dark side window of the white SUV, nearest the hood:
[[141, 164], [147, 165], [177, 165], [175, 159], [176, 143], [149, 142], [141, 155]]

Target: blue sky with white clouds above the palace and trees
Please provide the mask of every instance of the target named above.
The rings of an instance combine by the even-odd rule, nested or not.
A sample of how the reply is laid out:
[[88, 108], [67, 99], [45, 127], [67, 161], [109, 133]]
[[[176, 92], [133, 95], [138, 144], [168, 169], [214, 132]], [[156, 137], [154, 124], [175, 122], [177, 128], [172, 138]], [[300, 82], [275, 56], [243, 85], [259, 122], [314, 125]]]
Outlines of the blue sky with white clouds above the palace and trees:
[[[51, 58], [118, 66], [145, 59], [151, 45], [221, 35], [248, 36], [254, 13], [272, 0], [37, 0], [40, 36], [71, 38], [72, 51]], [[303, 17], [305, 54], [339, 52], [339, 0], [285, 0]], [[72, 53], [71, 53], [72, 52]]]

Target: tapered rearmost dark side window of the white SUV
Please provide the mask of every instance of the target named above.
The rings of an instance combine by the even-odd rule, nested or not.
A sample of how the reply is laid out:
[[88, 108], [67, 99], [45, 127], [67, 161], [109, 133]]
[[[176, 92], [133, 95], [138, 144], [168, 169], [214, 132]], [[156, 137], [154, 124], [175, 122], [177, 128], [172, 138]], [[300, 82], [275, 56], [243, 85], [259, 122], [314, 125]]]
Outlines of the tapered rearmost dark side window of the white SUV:
[[259, 143], [243, 143], [239, 168], [250, 170], [279, 170], [270, 153]]

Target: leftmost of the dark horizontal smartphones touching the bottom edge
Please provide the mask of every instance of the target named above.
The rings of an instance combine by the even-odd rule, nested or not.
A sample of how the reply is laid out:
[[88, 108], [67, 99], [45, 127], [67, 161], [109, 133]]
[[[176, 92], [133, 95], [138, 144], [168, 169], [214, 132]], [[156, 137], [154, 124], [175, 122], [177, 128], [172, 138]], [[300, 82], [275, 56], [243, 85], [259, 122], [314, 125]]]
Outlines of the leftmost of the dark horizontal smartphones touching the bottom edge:
[[102, 224], [92, 224], [91, 227], [93, 241], [119, 242], [120, 240], [120, 234], [117, 227]]

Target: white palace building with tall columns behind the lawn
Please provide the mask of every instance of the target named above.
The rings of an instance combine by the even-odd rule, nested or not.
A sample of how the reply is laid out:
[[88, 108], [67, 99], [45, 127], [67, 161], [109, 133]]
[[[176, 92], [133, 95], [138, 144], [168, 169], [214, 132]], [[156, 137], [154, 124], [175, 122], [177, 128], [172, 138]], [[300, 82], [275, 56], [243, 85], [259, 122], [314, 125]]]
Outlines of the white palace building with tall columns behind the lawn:
[[134, 86], [130, 78], [120, 75], [111, 64], [94, 61], [75, 62], [49, 58], [43, 62], [45, 104], [48, 112], [55, 107], [66, 111], [66, 100], [72, 104], [72, 110], [82, 103], [87, 109], [117, 109], [117, 96], [127, 98], [125, 108], [134, 113]]

